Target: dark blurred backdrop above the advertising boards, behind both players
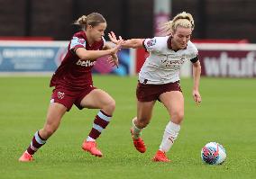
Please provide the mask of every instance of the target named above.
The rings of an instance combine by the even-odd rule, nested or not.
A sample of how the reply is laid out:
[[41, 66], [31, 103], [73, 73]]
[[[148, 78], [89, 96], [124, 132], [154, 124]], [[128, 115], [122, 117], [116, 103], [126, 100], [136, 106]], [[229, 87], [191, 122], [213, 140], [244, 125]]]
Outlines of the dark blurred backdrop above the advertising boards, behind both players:
[[254, 0], [0, 0], [0, 36], [69, 40], [77, 31], [72, 22], [82, 14], [98, 12], [108, 22], [107, 31], [146, 38], [154, 35], [158, 5], [170, 17], [192, 13], [196, 39], [256, 42]]

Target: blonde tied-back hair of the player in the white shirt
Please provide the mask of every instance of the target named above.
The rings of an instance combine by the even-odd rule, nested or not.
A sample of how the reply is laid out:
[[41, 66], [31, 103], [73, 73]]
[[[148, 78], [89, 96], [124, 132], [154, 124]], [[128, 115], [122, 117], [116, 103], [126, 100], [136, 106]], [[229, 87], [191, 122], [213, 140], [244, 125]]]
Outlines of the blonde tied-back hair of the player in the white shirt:
[[177, 30], [178, 26], [191, 28], [193, 31], [195, 24], [192, 15], [186, 12], [178, 13], [172, 21], [164, 22], [160, 25], [160, 33], [164, 35], [170, 35]]

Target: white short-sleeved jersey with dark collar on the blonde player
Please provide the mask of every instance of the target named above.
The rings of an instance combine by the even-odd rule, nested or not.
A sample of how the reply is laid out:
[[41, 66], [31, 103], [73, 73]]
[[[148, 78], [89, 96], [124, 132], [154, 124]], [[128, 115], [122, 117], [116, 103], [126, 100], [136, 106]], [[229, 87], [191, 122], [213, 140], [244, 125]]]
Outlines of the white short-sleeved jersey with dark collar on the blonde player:
[[186, 49], [174, 51], [168, 48], [167, 37], [144, 40], [144, 47], [150, 52], [139, 73], [139, 81], [144, 84], [168, 84], [179, 80], [179, 70], [187, 60], [197, 57], [198, 50], [189, 40]]

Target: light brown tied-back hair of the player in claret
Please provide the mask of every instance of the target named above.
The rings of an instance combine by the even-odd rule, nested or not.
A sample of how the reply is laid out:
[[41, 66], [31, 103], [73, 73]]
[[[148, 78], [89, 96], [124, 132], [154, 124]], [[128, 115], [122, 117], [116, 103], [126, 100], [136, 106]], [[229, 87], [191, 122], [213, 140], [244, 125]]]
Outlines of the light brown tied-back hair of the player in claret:
[[78, 18], [74, 24], [81, 26], [82, 30], [87, 30], [87, 26], [91, 25], [92, 27], [98, 25], [99, 23], [104, 23], [105, 18], [100, 13], [90, 13], [88, 15], [82, 15]]

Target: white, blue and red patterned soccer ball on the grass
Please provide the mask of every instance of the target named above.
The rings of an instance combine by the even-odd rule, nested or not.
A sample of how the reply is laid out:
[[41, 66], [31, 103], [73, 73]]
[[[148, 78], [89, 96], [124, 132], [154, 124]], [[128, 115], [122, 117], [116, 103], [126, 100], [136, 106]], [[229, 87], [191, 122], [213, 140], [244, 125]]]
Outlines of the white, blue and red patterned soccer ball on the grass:
[[201, 150], [203, 162], [209, 165], [221, 165], [226, 158], [225, 149], [216, 142], [207, 143]]

